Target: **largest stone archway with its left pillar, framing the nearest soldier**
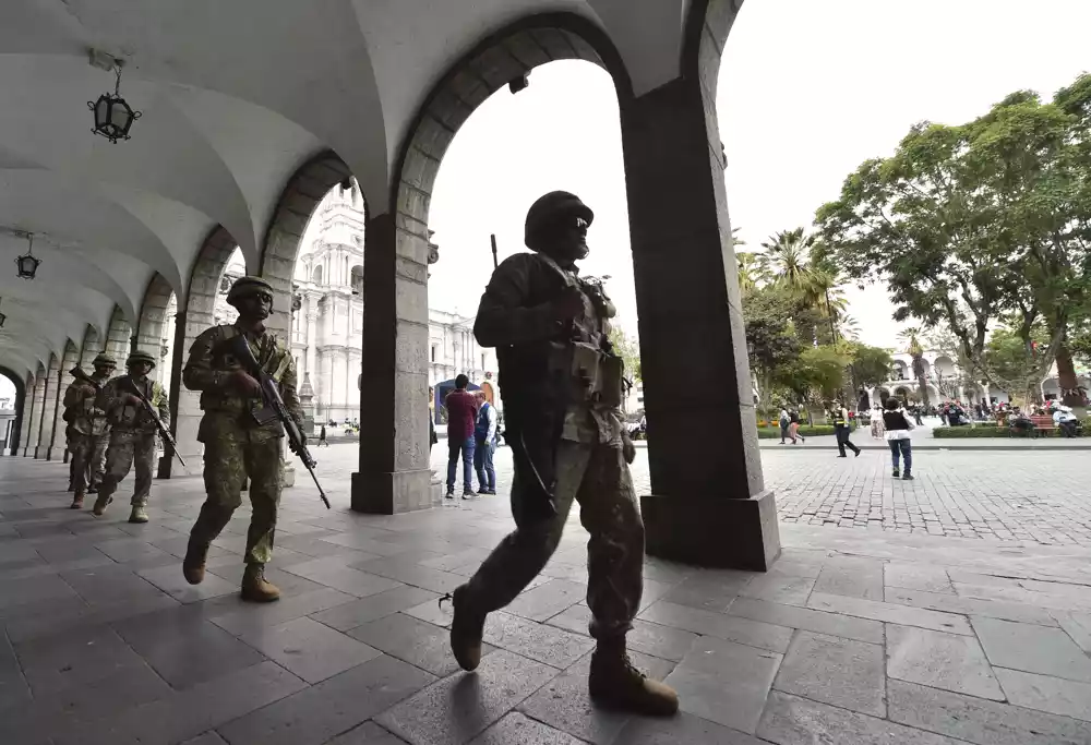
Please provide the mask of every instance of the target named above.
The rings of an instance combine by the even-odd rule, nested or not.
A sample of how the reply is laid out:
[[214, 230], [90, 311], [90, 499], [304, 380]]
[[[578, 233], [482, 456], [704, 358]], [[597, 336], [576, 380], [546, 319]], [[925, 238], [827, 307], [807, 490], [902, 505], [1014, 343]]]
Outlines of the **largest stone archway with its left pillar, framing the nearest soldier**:
[[400, 146], [388, 212], [367, 227], [362, 385], [382, 395], [361, 411], [360, 470], [352, 474], [356, 510], [391, 514], [431, 506], [428, 265], [436, 256], [428, 215], [440, 163], [455, 133], [489, 96], [539, 65], [572, 59], [607, 69], [619, 98], [632, 95], [621, 58], [598, 27], [564, 13], [532, 16], [485, 38], [453, 65], [427, 96]]

